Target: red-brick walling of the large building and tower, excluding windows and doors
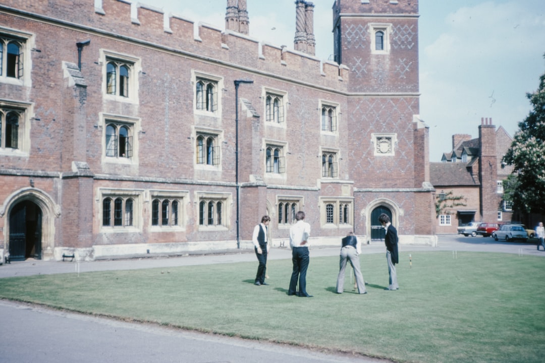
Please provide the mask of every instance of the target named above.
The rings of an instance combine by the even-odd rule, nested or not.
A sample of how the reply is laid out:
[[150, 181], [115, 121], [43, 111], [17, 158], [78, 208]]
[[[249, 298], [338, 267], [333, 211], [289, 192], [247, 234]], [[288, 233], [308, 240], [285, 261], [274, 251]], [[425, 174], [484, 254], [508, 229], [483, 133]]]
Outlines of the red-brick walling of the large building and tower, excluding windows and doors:
[[[350, 6], [356, 3], [360, 2], [351, 2]], [[368, 217], [362, 219], [361, 211], [381, 198], [391, 198], [403, 211], [403, 217], [399, 217], [403, 233], [432, 233], [426, 217], [431, 194], [421, 190], [429, 179], [427, 129], [416, 127], [413, 121], [419, 113], [417, 2], [371, 3], [379, 13], [409, 14], [380, 20], [397, 27], [396, 34], [405, 29], [407, 40], [402, 43], [401, 38], [392, 36], [390, 61], [378, 62], [368, 51], [353, 51], [349, 46], [354, 40], [349, 29], [365, 28], [376, 19], [359, 23], [343, 20], [346, 66], [322, 63], [285, 47], [260, 45], [245, 35], [211, 26], [199, 26], [195, 39], [192, 21], [172, 16], [164, 23], [162, 11], [146, 5], [137, 7], [137, 17], [131, 19], [131, 5], [118, 0], [104, 0], [99, 9], [94, 8], [93, 0], [76, 4], [63, 0], [5, 1], [0, 5], [0, 22], [31, 34], [27, 66], [32, 83], [21, 87], [0, 82], [0, 93], [31, 103], [33, 115], [29, 120], [29, 155], [6, 158], [0, 165], [2, 180], [10, 175], [10, 183], [0, 187], [0, 200], [28, 184], [15, 170], [25, 170], [29, 175], [46, 171], [50, 173], [51, 196], [61, 213], [55, 217], [59, 223], [54, 235], [44, 238], [54, 240], [56, 247], [198, 241], [232, 245], [236, 238], [238, 107], [240, 231], [244, 240], [251, 238], [253, 226], [267, 211], [276, 221], [273, 225], [277, 224], [277, 195], [301, 198], [314, 237], [344, 236], [352, 229], [365, 233]], [[337, 2], [340, 7], [348, 4]], [[16, 9], [35, 16], [28, 17]], [[367, 13], [368, 9], [367, 5], [358, 5], [351, 11]], [[76, 42], [87, 39], [90, 43], [81, 50], [81, 82], [74, 84], [66, 63], [77, 64]], [[136, 95], [133, 99], [105, 97], [104, 52], [135, 59], [131, 73], [135, 88], [130, 88]], [[355, 58], [367, 64], [372, 77], [361, 77], [362, 70], [350, 63]], [[220, 111], [215, 115], [194, 110], [195, 72], [221, 80]], [[235, 79], [253, 81], [241, 84], [238, 104]], [[285, 95], [284, 125], [265, 121], [265, 88]], [[320, 131], [320, 102], [337, 105], [338, 128], [334, 133]], [[112, 162], [105, 157], [105, 115], [134, 122], [131, 136], [135, 155], [130, 161]], [[196, 130], [217, 133], [221, 149], [217, 168], [196, 167]], [[396, 135], [395, 155], [375, 155], [374, 133]], [[267, 143], [284, 145], [285, 174], [265, 172]], [[338, 180], [322, 180], [324, 149], [335, 150], [338, 156]], [[88, 169], [75, 170], [75, 162], [86, 163]], [[104, 188], [140, 193], [142, 210], [137, 215], [137, 231], [112, 233], [102, 228], [99, 190]], [[356, 189], [362, 193], [358, 197]], [[181, 206], [186, 222], [183, 229], [152, 229], [150, 190], [187, 193]], [[230, 195], [226, 230], [199, 229], [197, 195], [203, 192]], [[354, 197], [354, 225], [324, 228], [320, 197]], [[5, 223], [2, 218], [0, 223]], [[286, 231], [278, 228], [271, 233], [273, 238], [286, 236]]]

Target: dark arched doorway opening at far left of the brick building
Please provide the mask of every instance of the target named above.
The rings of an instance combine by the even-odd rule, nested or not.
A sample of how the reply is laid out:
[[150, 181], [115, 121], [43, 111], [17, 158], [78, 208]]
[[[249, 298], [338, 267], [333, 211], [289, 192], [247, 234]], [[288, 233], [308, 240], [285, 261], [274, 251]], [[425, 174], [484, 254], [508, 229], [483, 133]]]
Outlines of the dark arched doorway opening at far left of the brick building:
[[33, 201], [17, 203], [9, 213], [9, 258], [41, 259], [41, 208]]

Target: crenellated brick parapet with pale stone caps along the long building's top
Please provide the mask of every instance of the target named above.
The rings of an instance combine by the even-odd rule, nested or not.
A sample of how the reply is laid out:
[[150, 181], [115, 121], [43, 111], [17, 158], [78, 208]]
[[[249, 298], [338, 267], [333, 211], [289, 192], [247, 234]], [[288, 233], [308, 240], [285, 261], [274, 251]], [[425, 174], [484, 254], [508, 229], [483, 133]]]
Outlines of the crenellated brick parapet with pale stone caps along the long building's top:
[[0, 11], [3, 9], [31, 13], [64, 26], [69, 24], [82, 32], [223, 61], [245, 70], [270, 72], [316, 85], [322, 82], [324, 87], [343, 90], [348, 79], [346, 68], [321, 61], [307, 52], [260, 43], [246, 34], [210, 24], [195, 24], [180, 14], [165, 16], [162, 9], [143, 3], [128, 0], [4, 0]]

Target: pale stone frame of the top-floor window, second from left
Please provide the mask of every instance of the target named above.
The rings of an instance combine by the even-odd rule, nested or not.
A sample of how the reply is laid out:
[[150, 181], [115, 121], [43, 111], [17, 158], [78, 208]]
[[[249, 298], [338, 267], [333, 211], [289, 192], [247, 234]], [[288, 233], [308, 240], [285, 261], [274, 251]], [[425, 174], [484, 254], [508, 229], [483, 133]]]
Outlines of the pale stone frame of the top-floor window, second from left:
[[[109, 101], [117, 101], [117, 102], [129, 102], [129, 103], [135, 103], [140, 104], [140, 99], [138, 97], [138, 90], [139, 90], [139, 82], [138, 82], [138, 75], [142, 72], [142, 61], [138, 57], [130, 56], [129, 54], [122, 54], [110, 50], [100, 49], [99, 50], [100, 59], [99, 64], [101, 64], [102, 67], [102, 95], [105, 100]], [[110, 63], [116, 63], [118, 69], [121, 66], [126, 66], [129, 69], [129, 80], [127, 84], [127, 96], [122, 96], [118, 94], [119, 90], [119, 77], [120, 75], [116, 75], [116, 93], [110, 94], [108, 93], [108, 64]], [[119, 73], [119, 71], [118, 71]]]

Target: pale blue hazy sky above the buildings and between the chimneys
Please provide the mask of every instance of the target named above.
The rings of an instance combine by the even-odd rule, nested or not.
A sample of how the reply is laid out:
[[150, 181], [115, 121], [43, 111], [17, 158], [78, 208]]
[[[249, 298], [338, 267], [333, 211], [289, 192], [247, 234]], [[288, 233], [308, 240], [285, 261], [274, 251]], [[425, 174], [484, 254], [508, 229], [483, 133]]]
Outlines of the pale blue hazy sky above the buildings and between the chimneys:
[[[226, 0], [140, 2], [225, 29]], [[316, 56], [332, 59], [334, 0], [312, 2]], [[293, 49], [294, 0], [247, 0], [247, 10], [251, 38]], [[526, 94], [545, 73], [545, 1], [420, 0], [419, 14], [420, 118], [429, 126], [429, 160], [452, 151], [453, 134], [478, 137], [481, 118], [514, 136], [531, 110]]]

